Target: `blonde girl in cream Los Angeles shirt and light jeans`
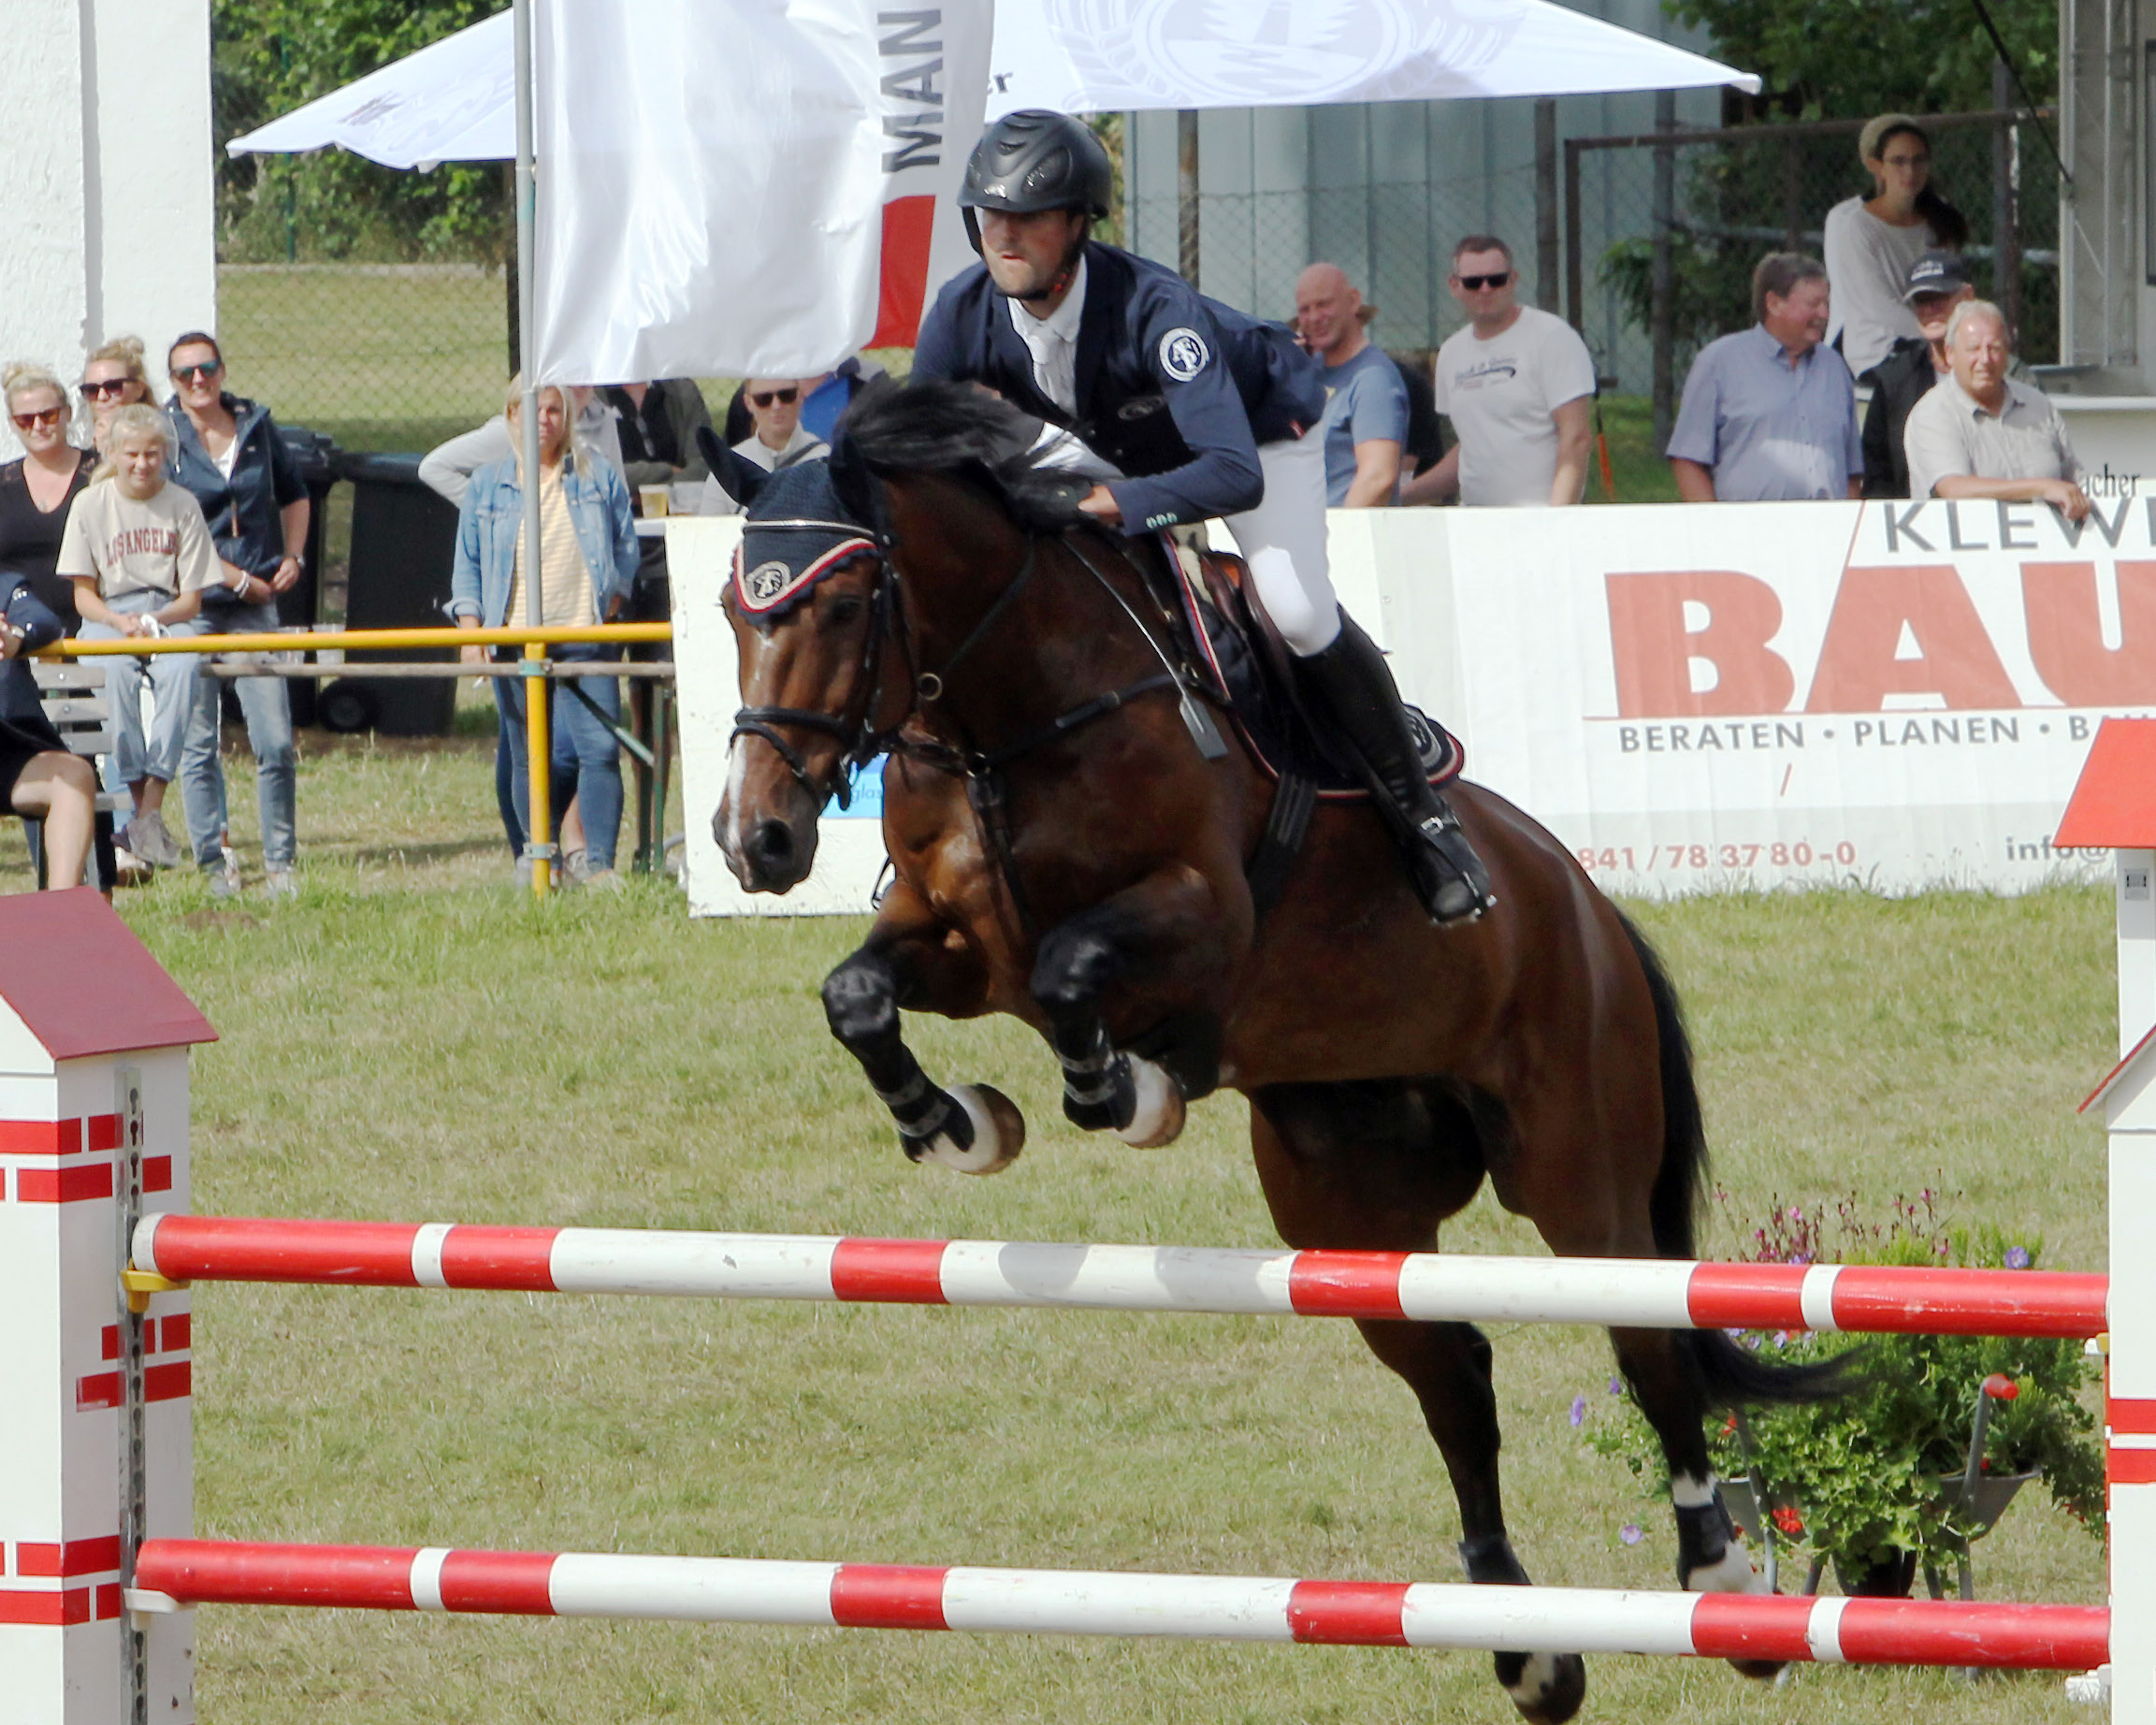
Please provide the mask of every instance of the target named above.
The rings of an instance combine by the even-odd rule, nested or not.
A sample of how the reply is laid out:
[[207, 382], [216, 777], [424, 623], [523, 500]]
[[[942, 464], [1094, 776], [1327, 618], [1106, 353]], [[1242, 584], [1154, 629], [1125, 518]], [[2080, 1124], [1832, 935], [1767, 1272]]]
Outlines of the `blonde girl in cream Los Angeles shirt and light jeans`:
[[[60, 539], [60, 574], [75, 584], [84, 640], [160, 636], [203, 608], [218, 586], [209, 524], [192, 492], [166, 483], [172, 431], [164, 414], [132, 403], [112, 414], [110, 455], [91, 487], [75, 498]], [[142, 731], [142, 684], [155, 696], [155, 718]], [[112, 703], [112, 765], [134, 794], [134, 819], [121, 843], [157, 869], [179, 867], [181, 852], [164, 826], [164, 789], [179, 776], [179, 750], [194, 696], [194, 656], [106, 660]]]

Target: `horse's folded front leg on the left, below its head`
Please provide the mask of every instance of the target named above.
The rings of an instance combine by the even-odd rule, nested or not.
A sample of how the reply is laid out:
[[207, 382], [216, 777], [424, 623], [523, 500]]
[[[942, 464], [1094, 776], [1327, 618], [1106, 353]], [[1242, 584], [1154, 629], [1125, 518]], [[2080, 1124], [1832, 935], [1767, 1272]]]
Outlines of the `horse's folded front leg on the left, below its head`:
[[972, 1018], [987, 1003], [987, 966], [903, 882], [884, 897], [860, 949], [824, 979], [830, 1033], [860, 1061], [916, 1162], [1000, 1173], [1026, 1143], [1026, 1117], [990, 1085], [936, 1085], [899, 1029], [899, 1009]]

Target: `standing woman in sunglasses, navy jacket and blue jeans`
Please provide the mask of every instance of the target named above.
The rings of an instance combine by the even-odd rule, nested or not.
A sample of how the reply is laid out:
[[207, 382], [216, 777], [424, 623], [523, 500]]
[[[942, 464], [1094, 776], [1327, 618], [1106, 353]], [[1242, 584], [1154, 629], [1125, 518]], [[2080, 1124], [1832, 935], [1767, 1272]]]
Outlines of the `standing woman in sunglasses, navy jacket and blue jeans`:
[[[276, 420], [259, 401], [224, 388], [218, 341], [190, 330], [166, 354], [177, 395], [166, 403], [172, 423], [172, 477], [194, 492], [209, 520], [209, 535], [224, 565], [224, 584], [203, 602], [198, 634], [259, 634], [278, 627], [276, 602], [306, 569], [308, 496]], [[293, 897], [293, 774], [291, 701], [278, 677], [233, 681], [254, 750], [254, 791], [261, 804], [263, 869], [270, 897]], [[211, 897], [239, 893], [218, 759], [220, 679], [196, 677], [179, 787], [188, 809], [194, 862], [211, 875]]]

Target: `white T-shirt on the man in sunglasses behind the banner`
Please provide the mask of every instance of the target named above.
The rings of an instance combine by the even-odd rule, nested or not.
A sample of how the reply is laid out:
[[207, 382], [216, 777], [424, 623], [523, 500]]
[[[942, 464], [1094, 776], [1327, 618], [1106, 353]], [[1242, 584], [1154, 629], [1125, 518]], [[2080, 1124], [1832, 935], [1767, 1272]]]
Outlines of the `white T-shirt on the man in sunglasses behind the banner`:
[[1557, 410], [1595, 392], [1578, 332], [1535, 306], [1490, 341], [1475, 326], [1438, 349], [1438, 412], [1460, 438], [1460, 500], [1533, 507], [1557, 483]]

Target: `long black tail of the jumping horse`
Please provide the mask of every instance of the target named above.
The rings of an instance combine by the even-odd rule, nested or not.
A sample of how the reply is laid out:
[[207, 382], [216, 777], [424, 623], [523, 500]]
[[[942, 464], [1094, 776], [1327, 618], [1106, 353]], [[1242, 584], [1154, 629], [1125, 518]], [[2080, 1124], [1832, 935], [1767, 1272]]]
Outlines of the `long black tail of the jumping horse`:
[[[1677, 990], [1632, 921], [1617, 912], [1639, 968], [1654, 996], [1654, 1029], [1662, 1044], [1662, 1167], [1647, 1197], [1654, 1248], [1662, 1257], [1699, 1257], [1695, 1216], [1708, 1190], [1708, 1128], [1699, 1115], [1692, 1082], [1692, 1037], [1684, 1029]], [[1770, 1365], [1731, 1341], [1723, 1330], [1680, 1330], [1677, 1346], [1692, 1356], [1708, 1402], [1718, 1408], [1764, 1402], [1824, 1402], [1841, 1395], [1854, 1354], [1807, 1365]]]

